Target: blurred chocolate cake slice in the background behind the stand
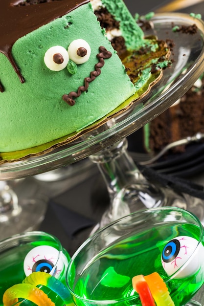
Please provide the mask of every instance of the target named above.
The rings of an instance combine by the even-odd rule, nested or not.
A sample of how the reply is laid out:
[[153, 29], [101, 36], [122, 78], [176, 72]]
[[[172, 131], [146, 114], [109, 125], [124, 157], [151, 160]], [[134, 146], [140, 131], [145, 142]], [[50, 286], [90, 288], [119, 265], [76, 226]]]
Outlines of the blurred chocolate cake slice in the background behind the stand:
[[[145, 149], [158, 153], [169, 143], [204, 133], [204, 75], [172, 107], [144, 127]], [[177, 146], [173, 153], [182, 153]]]

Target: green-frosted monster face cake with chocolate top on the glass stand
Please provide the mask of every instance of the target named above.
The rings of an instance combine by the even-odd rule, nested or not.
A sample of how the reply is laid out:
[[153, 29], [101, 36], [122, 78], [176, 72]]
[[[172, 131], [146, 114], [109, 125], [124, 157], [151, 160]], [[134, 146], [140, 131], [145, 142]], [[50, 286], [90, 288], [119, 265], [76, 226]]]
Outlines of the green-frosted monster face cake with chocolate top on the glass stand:
[[[151, 45], [161, 49], [154, 66], [168, 54], [165, 44], [144, 39], [122, 0], [3, 0], [0, 14], [2, 160], [44, 151], [107, 116], [149, 88]], [[148, 64], [131, 64], [141, 48]]]

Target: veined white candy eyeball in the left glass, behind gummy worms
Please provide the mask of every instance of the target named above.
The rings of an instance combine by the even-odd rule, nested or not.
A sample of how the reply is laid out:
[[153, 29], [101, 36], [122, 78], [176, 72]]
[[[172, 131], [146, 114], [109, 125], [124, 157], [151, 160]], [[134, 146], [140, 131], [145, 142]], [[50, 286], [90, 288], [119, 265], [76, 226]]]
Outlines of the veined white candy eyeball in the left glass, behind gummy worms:
[[[56, 278], [61, 276], [68, 267], [68, 259], [50, 245], [39, 245], [31, 249], [24, 258], [23, 269], [26, 276], [33, 272], [46, 272]], [[54, 270], [53, 270], [54, 268]]]

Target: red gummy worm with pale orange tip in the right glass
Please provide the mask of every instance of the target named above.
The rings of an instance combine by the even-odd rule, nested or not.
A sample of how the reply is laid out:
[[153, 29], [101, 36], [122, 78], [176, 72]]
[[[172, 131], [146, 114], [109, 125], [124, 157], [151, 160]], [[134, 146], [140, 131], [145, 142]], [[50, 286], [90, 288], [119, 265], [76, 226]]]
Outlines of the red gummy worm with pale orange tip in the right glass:
[[136, 275], [132, 282], [133, 288], [139, 295], [142, 306], [156, 306], [150, 288], [143, 275]]

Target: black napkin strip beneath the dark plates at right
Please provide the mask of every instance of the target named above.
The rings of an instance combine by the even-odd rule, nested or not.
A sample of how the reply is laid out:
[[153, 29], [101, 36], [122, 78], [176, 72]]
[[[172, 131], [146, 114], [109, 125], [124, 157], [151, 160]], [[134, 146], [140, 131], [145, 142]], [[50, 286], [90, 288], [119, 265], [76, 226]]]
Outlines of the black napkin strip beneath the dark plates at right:
[[204, 186], [195, 184], [180, 177], [160, 174], [151, 168], [140, 165], [139, 163], [136, 163], [136, 165], [141, 174], [144, 175], [147, 180], [158, 183], [163, 187], [169, 187], [176, 192], [185, 193], [192, 197], [204, 199]]

